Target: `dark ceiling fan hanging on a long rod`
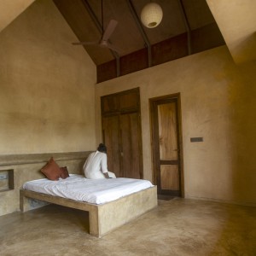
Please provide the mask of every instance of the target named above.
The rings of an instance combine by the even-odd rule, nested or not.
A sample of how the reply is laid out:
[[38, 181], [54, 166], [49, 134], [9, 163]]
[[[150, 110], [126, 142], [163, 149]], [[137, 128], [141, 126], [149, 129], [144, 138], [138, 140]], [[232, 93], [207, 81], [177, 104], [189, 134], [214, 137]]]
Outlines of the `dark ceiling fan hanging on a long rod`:
[[110, 43], [109, 38], [111, 37], [113, 31], [115, 30], [115, 27], [118, 25], [118, 21], [116, 20], [110, 20], [108, 23], [108, 26], [104, 32], [103, 30], [103, 1], [102, 1], [102, 38], [99, 41], [96, 42], [78, 42], [78, 43], [72, 43], [73, 45], [99, 45], [102, 48], [108, 48], [112, 49], [116, 53], [119, 53], [119, 49], [115, 47], [113, 44]]

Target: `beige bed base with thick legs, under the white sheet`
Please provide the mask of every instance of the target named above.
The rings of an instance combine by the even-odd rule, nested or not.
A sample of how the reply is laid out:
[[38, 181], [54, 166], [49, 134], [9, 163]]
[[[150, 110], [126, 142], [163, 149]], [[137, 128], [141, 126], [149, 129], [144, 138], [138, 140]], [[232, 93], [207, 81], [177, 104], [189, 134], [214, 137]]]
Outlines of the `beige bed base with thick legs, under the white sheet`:
[[97, 237], [104, 236], [131, 219], [157, 207], [156, 186], [102, 205], [20, 189], [20, 211], [32, 210], [30, 198], [89, 212], [90, 235]]

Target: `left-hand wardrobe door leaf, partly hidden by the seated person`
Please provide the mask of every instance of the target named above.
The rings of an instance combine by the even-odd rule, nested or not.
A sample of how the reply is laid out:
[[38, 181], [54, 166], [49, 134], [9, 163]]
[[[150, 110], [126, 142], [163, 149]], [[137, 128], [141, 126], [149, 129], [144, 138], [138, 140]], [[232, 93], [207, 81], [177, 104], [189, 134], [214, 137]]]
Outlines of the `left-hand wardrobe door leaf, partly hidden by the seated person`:
[[119, 166], [119, 117], [117, 115], [102, 118], [103, 140], [107, 146], [108, 171], [116, 177], [123, 177]]

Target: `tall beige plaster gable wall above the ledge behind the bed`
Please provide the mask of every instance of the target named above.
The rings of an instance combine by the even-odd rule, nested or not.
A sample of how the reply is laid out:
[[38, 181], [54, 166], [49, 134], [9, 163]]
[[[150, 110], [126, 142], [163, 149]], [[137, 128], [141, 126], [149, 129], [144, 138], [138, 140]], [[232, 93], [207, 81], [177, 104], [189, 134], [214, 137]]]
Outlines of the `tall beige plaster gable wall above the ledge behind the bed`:
[[0, 33], [0, 154], [95, 148], [96, 67], [50, 0]]

